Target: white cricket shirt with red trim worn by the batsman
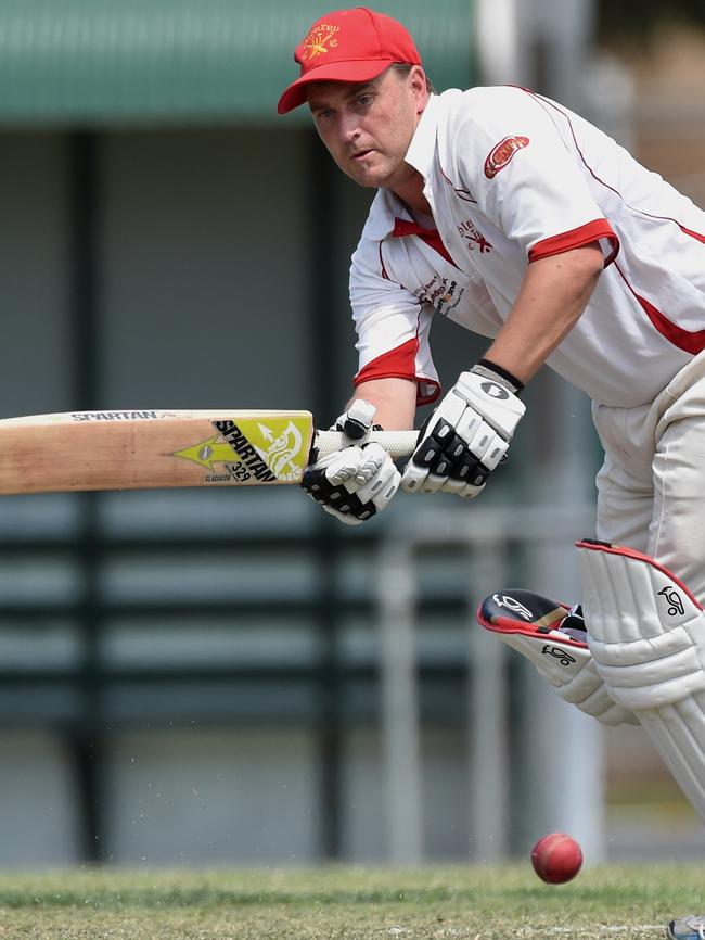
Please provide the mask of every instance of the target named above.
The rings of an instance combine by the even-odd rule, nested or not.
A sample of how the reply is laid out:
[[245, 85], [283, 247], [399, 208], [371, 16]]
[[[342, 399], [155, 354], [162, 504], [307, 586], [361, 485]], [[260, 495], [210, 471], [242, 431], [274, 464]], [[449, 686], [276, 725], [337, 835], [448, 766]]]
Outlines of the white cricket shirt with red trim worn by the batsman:
[[605, 270], [548, 359], [559, 374], [632, 407], [705, 348], [705, 213], [577, 114], [516, 87], [451, 89], [406, 160], [438, 231], [379, 190], [350, 268], [356, 384], [401, 377], [433, 401], [434, 315], [495, 336], [527, 265], [595, 240]]

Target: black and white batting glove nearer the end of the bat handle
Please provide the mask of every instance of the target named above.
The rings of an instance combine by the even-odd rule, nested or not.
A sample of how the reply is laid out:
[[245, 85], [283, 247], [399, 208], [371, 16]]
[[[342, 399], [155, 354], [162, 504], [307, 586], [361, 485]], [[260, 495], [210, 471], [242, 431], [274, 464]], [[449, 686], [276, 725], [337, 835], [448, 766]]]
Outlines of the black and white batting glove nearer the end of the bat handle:
[[461, 372], [422, 429], [401, 477], [408, 493], [477, 496], [504, 458], [525, 405], [485, 366]]

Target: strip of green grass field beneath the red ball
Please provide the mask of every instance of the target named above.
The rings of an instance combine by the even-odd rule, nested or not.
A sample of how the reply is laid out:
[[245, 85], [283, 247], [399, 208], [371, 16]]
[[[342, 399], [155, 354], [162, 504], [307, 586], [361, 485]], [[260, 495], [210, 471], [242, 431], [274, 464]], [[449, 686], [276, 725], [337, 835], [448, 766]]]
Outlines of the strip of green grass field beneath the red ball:
[[527, 864], [0, 875], [0, 938], [663, 938], [705, 911], [705, 866], [604, 866], [548, 886]]

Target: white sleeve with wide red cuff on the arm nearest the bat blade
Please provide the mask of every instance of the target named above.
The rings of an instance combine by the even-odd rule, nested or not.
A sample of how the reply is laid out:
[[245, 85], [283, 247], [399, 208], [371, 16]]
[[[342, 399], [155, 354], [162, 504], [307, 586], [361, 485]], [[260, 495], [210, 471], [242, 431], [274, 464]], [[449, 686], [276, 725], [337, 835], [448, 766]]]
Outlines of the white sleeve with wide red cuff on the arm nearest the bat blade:
[[352, 255], [350, 305], [359, 353], [355, 385], [408, 379], [416, 383], [418, 405], [435, 401], [440, 384], [428, 343], [433, 307], [390, 278], [381, 243], [364, 232]]

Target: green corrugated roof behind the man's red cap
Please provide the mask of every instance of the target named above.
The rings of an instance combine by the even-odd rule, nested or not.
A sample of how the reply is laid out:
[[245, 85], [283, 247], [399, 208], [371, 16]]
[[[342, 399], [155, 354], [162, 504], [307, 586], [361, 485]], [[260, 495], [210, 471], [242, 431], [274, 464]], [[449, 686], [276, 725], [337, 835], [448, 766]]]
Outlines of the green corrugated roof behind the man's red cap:
[[[470, 0], [373, 7], [410, 29], [437, 88], [470, 84]], [[294, 47], [331, 8], [330, 0], [0, 0], [0, 124], [296, 122], [296, 113], [278, 117], [277, 101], [298, 75]]]

